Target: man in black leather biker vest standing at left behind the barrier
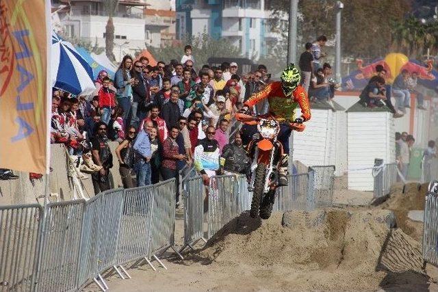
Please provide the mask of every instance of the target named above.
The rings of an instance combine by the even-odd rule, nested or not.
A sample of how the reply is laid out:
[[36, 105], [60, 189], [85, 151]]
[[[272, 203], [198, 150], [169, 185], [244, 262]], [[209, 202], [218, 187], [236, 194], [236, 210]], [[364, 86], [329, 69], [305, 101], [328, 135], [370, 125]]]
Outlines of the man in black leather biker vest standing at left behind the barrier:
[[92, 144], [92, 159], [93, 162], [101, 166], [99, 172], [91, 174], [94, 194], [99, 194], [101, 191], [110, 189], [110, 168], [112, 168], [112, 154], [107, 138], [107, 124], [97, 122], [94, 130], [94, 137], [91, 140]]

